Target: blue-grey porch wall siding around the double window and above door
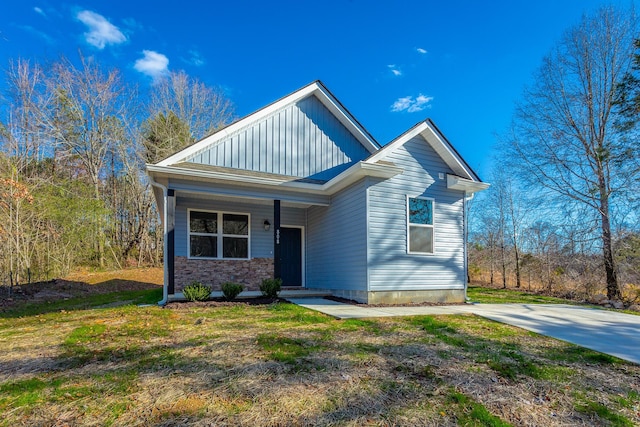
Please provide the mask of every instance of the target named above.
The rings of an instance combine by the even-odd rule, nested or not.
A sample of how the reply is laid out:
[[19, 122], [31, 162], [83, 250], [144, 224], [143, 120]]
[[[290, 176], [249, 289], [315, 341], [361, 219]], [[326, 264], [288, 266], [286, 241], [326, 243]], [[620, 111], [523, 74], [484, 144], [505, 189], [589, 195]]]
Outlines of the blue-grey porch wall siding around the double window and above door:
[[[214, 212], [235, 212], [249, 214], [249, 250], [251, 258], [273, 257], [273, 204], [237, 203], [222, 200], [204, 200], [178, 196], [176, 200], [175, 255], [187, 257], [188, 209]], [[282, 207], [280, 222], [284, 225], [305, 226], [305, 210]], [[272, 224], [270, 231], [264, 231], [264, 220]]]

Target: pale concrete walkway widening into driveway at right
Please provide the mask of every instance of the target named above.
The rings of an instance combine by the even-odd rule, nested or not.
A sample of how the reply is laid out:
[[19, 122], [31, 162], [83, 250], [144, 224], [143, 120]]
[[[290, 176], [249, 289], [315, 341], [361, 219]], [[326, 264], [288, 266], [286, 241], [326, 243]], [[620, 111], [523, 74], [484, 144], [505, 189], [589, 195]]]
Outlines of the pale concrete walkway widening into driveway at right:
[[640, 364], [640, 316], [564, 304], [464, 304], [368, 307], [324, 298], [294, 304], [338, 319], [473, 313]]

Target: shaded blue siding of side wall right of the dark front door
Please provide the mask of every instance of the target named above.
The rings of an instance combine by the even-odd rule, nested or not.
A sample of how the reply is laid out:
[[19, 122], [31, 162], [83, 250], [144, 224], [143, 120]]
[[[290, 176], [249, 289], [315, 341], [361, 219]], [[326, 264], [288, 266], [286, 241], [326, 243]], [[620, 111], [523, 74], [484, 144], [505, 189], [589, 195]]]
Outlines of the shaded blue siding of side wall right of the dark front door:
[[367, 289], [366, 187], [361, 180], [307, 212], [307, 287]]

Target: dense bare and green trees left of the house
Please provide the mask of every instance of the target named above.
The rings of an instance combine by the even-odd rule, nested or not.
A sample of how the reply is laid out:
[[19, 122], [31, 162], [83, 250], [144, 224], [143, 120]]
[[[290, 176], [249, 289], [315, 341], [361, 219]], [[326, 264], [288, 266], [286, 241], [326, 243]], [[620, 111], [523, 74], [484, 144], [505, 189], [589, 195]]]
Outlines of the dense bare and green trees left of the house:
[[148, 92], [82, 55], [11, 60], [0, 98], [0, 285], [79, 265], [162, 260], [144, 165], [233, 118], [224, 93], [184, 72]]

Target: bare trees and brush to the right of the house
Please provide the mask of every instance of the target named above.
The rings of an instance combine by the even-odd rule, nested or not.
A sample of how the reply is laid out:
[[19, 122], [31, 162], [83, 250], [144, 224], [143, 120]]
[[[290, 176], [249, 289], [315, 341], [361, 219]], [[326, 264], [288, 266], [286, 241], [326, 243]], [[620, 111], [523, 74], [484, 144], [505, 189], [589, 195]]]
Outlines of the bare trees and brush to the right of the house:
[[472, 201], [476, 279], [640, 299], [639, 52], [633, 11], [604, 7], [544, 57]]

